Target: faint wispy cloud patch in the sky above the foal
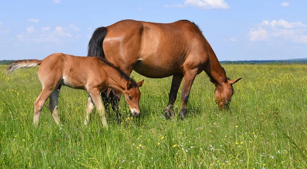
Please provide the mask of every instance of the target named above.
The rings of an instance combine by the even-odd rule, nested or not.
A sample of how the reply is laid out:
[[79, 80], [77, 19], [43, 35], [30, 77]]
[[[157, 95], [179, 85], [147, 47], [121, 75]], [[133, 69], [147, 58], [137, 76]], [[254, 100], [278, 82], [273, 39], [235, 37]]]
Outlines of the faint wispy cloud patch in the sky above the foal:
[[77, 26], [68, 25], [67, 27], [56, 26], [54, 29], [50, 27], [41, 27], [35, 29], [33, 25], [26, 27], [26, 32], [17, 35], [19, 41], [36, 42], [36, 43], [61, 43], [65, 41], [73, 41], [80, 38], [74, 35]]

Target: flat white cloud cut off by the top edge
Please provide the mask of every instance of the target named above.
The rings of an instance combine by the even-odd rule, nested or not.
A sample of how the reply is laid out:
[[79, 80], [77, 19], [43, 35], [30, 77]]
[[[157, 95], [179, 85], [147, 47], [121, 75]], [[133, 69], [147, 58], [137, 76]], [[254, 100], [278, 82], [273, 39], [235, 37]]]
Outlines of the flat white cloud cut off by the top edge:
[[164, 8], [195, 7], [199, 9], [228, 9], [230, 8], [224, 0], [185, 0], [184, 5], [164, 5]]

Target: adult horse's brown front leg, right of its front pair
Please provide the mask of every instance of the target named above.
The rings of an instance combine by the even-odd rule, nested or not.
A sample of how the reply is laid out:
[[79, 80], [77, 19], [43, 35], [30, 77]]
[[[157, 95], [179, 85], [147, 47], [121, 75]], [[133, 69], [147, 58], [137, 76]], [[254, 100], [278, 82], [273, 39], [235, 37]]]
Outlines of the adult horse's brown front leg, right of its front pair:
[[189, 100], [190, 90], [193, 84], [193, 81], [195, 79], [195, 76], [198, 73], [198, 69], [191, 69], [186, 70], [184, 72], [184, 78], [183, 78], [183, 89], [182, 89], [182, 95], [181, 95], [181, 110], [179, 112], [179, 117], [181, 119], [184, 119], [187, 112], [187, 104]]

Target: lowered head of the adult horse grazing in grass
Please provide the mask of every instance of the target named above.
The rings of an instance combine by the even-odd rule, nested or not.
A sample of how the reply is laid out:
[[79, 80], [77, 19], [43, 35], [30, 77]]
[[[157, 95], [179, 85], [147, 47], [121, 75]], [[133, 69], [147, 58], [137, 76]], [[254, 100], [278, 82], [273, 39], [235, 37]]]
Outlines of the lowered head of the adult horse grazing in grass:
[[[224, 69], [224, 68], [223, 68]], [[224, 69], [225, 72], [225, 69]], [[225, 72], [226, 75], [226, 72]], [[223, 81], [222, 84], [218, 84], [217, 82], [210, 80], [215, 85], [215, 102], [220, 107], [221, 110], [228, 109], [229, 104], [231, 102], [231, 97], [234, 93], [232, 85], [236, 82], [238, 82], [242, 78], [230, 80], [227, 77], [226, 81]]]

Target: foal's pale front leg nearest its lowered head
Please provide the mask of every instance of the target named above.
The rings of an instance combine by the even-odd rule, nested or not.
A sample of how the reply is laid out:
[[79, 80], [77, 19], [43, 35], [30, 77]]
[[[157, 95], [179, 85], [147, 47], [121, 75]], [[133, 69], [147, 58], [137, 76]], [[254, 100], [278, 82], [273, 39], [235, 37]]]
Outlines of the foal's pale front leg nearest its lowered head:
[[107, 123], [105, 120], [105, 110], [104, 110], [104, 106], [101, 102], [101, 98], [100, 98], [100, 91], [98, 89], [92, 89], [91, 91], [89, 91], [93, 102], [98, 110], [99, 116], [101, 117], [101, 122], [103, 127], [107, 128]]

